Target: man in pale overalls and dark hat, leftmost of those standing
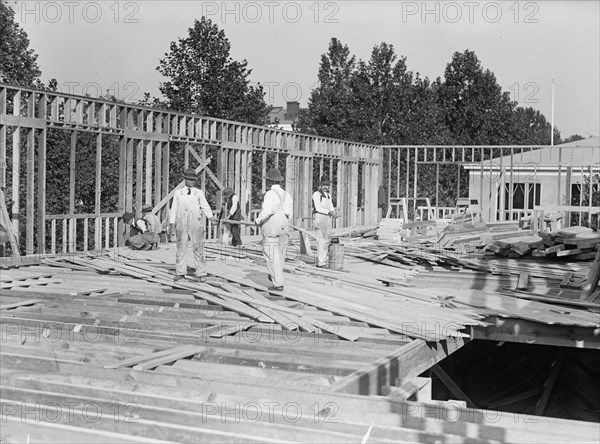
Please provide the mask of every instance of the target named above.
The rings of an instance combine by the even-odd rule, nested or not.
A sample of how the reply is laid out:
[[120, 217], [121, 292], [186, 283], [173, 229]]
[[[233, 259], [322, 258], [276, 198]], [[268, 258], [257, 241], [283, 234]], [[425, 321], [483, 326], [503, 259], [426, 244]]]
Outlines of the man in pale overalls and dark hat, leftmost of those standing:
[[195, 277], [197, 282], [206, 281], [206, 262], [204, 259], [204, 231], [205, 217], [212, 221], [217, 219], [204, 197], [202, 190], [195, 187], [196, 172], [187, 168], [183, 173], [185, 185], [175, 191], [173, 206], [169, 218], [169, 232], [177, 235], [177, 255], [175, 257], [176, 270], [174, 281], [185, 278], [187, 273], [187, 244], [188, 237], [192, 241], [194, 251]]

